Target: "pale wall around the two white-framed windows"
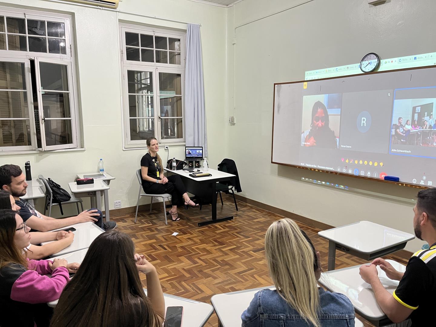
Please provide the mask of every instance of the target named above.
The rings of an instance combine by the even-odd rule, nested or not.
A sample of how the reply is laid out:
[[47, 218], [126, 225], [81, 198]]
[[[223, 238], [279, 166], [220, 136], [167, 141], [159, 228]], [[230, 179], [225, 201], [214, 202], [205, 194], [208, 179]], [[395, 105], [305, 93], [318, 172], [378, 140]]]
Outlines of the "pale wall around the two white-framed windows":
[[[139, 184], [135, 170], [140, 168], [140, 158], [146, 150], [123, 150], [118, 21], [182, 30], [186, 30], [187, 25], [44, 0], [8, 0], [8, 3], [0, 5], [54, 10], [74, 16], [79, 109], [86, 148], [75, 152], [2, 156], [1, 163], [24, 167], [25, 161], [30, 160], [33, 177], [43, 174], [68, 189], [67, 183], [74, 181], [77, 173], [97, 171], [98, 160], [103, 158], [105, 170], [116, 177], [110, 184], [110, 209], [114, 208], [115, 200], [121, 200], [123, 208], [136, 206]], [[201, 24], [205, 106], [210, 139], [208, 159], [211, 165], [216, 166], [222, 160], [225, 146], [220, 137], [225, 119], [223, 72], [226, 8], [186, 0], [125, 0], [118, 9]], [[170, 157], [184, 158], [184, 146], [170, 146], [169, 150]], [[167, 159], [163, 146], [159, 153], [163, 160]], [[143, 198], [140, 203], [148, 201]], [[44, 200], [38, 199], [35, 203], [41, 209]], [[85, 206], [89, 207], [89, 200], [86, 200]], [[75, 208], [74, 205], [72, 207]], [[53, 210], [54, 216], [59, 215], [58, 208]], [[74, 210], [66, 211], [70, 215], [75, 213]]]

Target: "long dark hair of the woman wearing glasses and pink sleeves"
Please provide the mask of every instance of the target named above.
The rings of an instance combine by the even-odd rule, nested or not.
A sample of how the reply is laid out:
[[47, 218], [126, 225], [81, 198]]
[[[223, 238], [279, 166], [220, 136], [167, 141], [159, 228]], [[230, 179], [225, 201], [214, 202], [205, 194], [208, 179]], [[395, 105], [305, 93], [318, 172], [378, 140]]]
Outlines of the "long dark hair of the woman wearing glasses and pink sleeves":
[[27, 261], [22, 255], [23, 249], [18, 249], [14, 243], [17, 229], [15, 215], [17, 211], [0, 210], [0, 268], [10, 263], [19, 263], [27, 268]]

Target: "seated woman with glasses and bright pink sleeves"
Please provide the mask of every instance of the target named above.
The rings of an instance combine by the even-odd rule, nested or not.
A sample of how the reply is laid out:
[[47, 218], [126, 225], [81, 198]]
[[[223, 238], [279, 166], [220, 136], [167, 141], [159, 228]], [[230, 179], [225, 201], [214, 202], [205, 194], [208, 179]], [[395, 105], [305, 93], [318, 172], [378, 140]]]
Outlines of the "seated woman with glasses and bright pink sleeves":
[[26, 258], [29, 231], [16, 211], [0, 210], [0, 326], [48, 327], [47, 302], [58, 299], [70, 279], [65, 259]]

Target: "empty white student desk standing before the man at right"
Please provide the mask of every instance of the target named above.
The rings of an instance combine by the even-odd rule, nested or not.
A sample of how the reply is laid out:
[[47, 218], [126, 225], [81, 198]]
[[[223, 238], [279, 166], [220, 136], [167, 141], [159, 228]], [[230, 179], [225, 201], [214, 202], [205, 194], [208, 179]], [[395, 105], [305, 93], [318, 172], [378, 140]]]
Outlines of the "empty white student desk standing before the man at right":
[[404, 249], [415, 236], [409, 233], [375, 224], [359, 221], [353, 224], [318, 232], [329, 240], [328, 270], [335, 266], [336, 250], [355, 255], [368, 261]]

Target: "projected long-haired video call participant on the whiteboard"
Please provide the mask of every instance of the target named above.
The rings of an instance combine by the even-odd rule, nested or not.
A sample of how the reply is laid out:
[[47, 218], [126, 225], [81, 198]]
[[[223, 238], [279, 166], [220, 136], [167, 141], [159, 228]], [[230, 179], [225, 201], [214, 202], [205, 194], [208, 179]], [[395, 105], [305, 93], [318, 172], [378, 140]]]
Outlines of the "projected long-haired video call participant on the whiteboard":
[[311, 117], [310, 129], [301, 133], [301, 145], [337, 149], [337, 138], [329, 127], [330, 119], [324, 103], [315, 102]]

